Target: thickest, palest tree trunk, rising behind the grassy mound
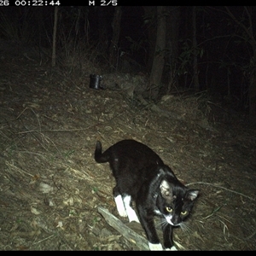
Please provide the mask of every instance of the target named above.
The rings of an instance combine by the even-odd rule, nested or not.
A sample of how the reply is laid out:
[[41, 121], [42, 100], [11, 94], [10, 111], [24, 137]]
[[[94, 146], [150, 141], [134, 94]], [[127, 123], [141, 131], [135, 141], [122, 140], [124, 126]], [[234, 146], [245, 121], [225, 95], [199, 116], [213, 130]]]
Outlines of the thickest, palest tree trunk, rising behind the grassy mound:
[[157, 32], [154, 60], [149, 78], [150, 98], [155, 100], [159, 94], [162, 73], [165, 65], [166, 49], [166, 7], [157, 7]]

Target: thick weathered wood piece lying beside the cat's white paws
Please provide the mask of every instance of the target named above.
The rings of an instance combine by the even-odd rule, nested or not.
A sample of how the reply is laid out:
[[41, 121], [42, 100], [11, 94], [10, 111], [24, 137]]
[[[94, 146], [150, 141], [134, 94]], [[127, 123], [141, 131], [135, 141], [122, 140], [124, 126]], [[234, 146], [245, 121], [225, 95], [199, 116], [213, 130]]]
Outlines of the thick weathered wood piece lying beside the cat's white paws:
[[125, 236], [128, 241], [134, 243], [141, 250], [149, 250], [147, 239], [131, 230], [118, 218], [113, 216], [113, 214], [111, 214], [107, 209], [103, 207], [97, 207], [97, 209], [98, 212], [102, 214], [103, 218], [105, 218], [105, 220], [108, 222], [108, 224], [111, 225], [115, 230], [119, 231], [121, 235]]

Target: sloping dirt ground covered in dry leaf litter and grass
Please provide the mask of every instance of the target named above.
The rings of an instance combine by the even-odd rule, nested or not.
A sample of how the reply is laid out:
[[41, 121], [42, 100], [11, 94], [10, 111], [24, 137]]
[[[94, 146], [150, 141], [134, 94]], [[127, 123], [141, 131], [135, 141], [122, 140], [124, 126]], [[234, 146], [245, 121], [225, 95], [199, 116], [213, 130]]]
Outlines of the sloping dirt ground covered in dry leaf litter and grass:
[[0, 57], [1, 250], [139, 249], [97, 211], [127, 224], [108, 164], [93, 159], [97, 139], [106, 149], [125, 138], [201, 190], [174, 230], [180, 250], [255, 250], [256, 131], [246, 117], [199, 95], [164, 96], [154, 111], [122, 90], [90, 89], [96, 67], [53, 71], [18, 48]]

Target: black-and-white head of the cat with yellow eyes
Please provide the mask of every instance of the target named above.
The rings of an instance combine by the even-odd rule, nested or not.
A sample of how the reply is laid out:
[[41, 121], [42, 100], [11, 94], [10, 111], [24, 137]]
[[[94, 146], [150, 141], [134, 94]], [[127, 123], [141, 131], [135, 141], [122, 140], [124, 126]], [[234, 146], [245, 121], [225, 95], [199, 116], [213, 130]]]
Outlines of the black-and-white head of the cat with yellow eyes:
[[163, 179], [160, 183], [160, 196], [157, 207], [167, 223], [177, 226], [189, 217], [199, 190], [188, 189], [181, 183], [169, 183]]

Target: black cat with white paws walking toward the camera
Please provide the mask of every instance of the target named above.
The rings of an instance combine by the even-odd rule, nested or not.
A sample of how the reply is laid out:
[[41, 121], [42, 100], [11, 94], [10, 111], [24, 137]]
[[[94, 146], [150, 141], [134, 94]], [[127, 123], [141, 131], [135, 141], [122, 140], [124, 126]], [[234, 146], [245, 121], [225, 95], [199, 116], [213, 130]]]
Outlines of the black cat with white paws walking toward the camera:
[[[149, 249], [163, 249], [154, 227], [154, 215], [159, 215], [165, 220], [164, 247], [177, 250], [172, 241], [172, 226], [188, 218], [199, 190], [185, 187], [158, 154], [134, 140], [113, 144], [104, 153], [102, 143], [97, 142], [95, 160], [109, 162], [116, 180], [113, 197], [119, 215], [142, 224]], [[138, 218], [131, 201], [136, 203]]]

